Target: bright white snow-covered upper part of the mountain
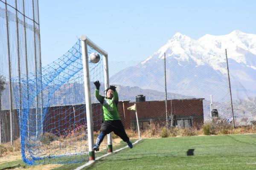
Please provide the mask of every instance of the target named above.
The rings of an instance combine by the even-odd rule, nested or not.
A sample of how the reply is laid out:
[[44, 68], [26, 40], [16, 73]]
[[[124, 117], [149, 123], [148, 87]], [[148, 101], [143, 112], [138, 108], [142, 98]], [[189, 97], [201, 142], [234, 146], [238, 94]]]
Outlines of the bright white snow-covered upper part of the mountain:
[[239, 30], [226, 35], [206, 34], [198, 40], [176, 33], [157, 52], [148, 57], [142, 64], [164, 58], [176, 59], [180, 62], [195, 62], [196, 65], [210, 65], [214, 70], [227, 74], [225, 64], [227, 56], [243, 67], [256, 70], [256, 35], [246, 34]]

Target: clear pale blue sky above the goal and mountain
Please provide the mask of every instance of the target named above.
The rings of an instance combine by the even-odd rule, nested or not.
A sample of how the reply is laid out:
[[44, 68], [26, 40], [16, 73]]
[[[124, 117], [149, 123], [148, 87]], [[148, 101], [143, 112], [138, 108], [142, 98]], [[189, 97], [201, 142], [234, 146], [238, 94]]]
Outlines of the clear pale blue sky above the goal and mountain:
[[42, 65], [82, 34], [109, 61], [139, 61], [177, 32], [193, 39], [233, 30], [256, 34], [255, 0], [39, 0]]

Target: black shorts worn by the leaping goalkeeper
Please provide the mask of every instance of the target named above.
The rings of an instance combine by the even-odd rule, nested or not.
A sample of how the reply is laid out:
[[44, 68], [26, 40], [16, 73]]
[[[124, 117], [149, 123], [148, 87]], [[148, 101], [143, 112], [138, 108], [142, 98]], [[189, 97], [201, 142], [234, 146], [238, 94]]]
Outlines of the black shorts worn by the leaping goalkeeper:
[[125, 133], [125, 128], [122, 125], [121, 120], [108, 120], [102, 122], [102, 127], [100, 129], [100, 132], [108, 134], [108, 133], [115, 133], [117, 136], [119, 136], [124, 142], [129, 141], [129, 137]]

